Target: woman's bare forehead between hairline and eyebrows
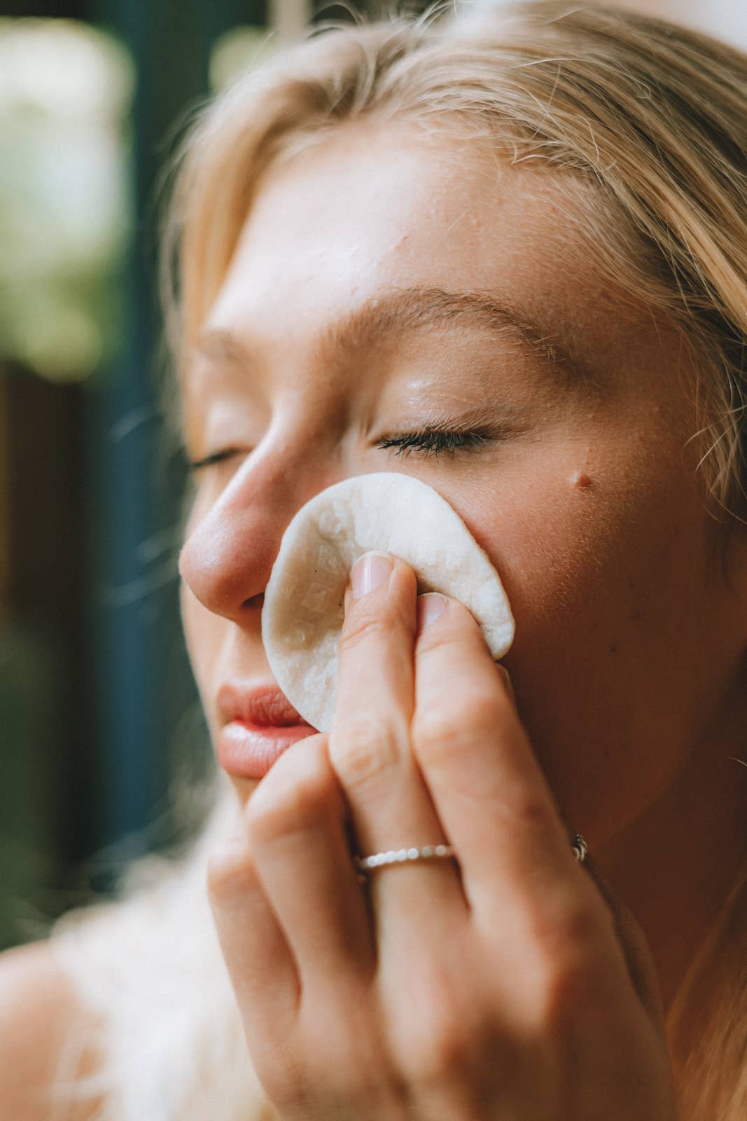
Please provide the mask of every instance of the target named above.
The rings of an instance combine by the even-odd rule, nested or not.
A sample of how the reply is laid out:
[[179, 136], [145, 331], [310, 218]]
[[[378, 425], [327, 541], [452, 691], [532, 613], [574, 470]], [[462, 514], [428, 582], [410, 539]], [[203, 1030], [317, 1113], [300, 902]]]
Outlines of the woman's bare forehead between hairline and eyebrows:
[[645, 316], [595, 271], [589, 211], [579, 179], [475, 141], [344, 126], [270, 169], [205, 326], [308, 344], [382, 291], [480, 291], [599, 364]]

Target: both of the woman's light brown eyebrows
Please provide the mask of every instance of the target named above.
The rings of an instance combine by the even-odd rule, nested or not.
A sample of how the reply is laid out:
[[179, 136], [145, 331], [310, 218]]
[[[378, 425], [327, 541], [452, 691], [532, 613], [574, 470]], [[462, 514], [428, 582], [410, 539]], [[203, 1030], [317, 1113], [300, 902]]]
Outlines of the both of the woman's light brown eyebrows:
[[[480, 290], [448, 291], [422, 286], [386, 289], [328, 326], [317, 346], [324, 351], [332, 348], [344, 352], [411, 331], [449, 326], [501, 335], [511, 333], [547, 363], [578, 372], [570, 351], [534, 323], [522, 307]], [[231, 364], [253, 363], [250, 348], [225, 328], [208, 328], [199, 337], [196, 351]]]

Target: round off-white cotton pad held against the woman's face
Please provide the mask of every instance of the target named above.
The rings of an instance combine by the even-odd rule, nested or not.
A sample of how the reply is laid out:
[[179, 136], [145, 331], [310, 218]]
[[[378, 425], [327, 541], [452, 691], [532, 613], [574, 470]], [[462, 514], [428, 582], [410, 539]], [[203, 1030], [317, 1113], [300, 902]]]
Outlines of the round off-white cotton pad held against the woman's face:
[[469, 609], [494, 658], [514, 637], [501, 580], [461, 518], [427, 483], [395, 472], [321, 491], [288, 526], [264, 593], [262, 638], [278, 685], [304, 720], [332, 728], [343, 599], [351, 568], [372, 549], [414, 569], [418, 592]]

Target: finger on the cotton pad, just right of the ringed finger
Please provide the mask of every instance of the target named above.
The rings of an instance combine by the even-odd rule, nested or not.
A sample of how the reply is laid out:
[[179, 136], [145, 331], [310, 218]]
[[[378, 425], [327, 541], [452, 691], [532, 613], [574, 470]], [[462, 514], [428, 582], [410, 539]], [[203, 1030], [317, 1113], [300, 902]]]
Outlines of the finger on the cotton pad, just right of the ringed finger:
[[[463, 604], [422, 595], [419, 618], [442, 612], [415, 641], [412, 750], [461, 867], [470, 906], [495, 917], [510, 880], [554, 895], [577, 877], [558, 808], [504, 676]], [[498, 892], [499, 896], [499, 892]]]

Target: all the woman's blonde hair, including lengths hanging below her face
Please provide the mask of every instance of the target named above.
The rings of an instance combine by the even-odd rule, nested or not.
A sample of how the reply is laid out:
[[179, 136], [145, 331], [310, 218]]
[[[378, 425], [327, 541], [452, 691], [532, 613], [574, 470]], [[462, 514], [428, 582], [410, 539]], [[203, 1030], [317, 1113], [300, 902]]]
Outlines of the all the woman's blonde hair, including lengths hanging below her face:
[[[164, 252], [177, 358], [217, 293], [265, 172], [365, 118], [474, 138], [568, 186], [586, 219], [576, 215], [573, 235], [587, 238], [619, 298], [665, 316], [697, 360], [708, 487], [723, 508], [744, 511], [747, 59], [663, 21], [558, 2], [456, 20], [431, 13], [312, 38], [241, 77], [181, 151]], [[206, 837], [227, 819], [225, 798], [220, 806]], [[95, 1084], [96, 1092], [111, 1088], [111, 1121], [271, 1115], [245, 1057], [235, 1058], [241, 1028], [202, 883], [207, 847], [203, 840], [186, 870], [158, 891], [118, 905], [111, 921], [105, 912], [84, 915], [62, 928], [68, 967], [111, 1023], [109, 1065]], [[730, 929], [728, 917], [720, 929]], [[739, 933], [731, 929], [698, 965], [708, 978], [720, 955], [741, 985], [741, 994], [719, 990], [697, 1069], [685, 1072], [687, 1117], [698, 1121], [744, 1117]], [[691, 981], [683, 991], [697, 988]], [[157, 1022], [151, 1009], [166, 1020]], [[678, 1017], [687, 1023], [681, 1002]], [[165, 1025], [174, 1026], [171, 1038]]]

